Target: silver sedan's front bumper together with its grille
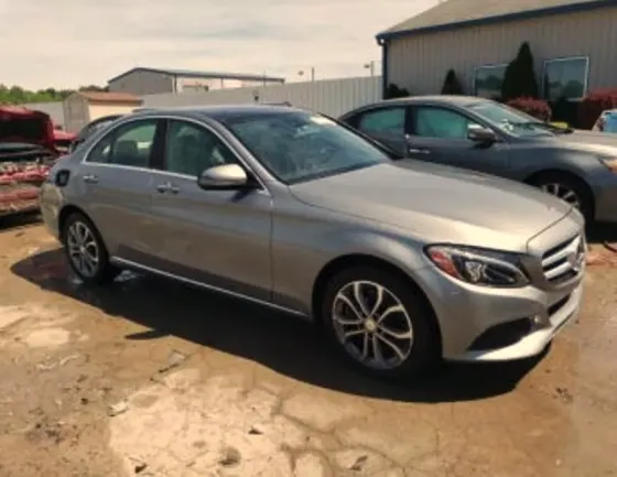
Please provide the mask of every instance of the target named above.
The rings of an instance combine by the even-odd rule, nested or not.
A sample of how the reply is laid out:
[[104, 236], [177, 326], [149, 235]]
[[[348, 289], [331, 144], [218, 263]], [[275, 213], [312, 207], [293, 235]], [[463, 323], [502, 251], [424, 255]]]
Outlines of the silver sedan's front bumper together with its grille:
[[542, 353], [578, 313], [585, 274], [582, 227], [582, 216], [572, 210], [528, 240], [526, 286], [480, 286], [436, 267], [416, 270], [440, 325], [443, 357], [499, 361]]

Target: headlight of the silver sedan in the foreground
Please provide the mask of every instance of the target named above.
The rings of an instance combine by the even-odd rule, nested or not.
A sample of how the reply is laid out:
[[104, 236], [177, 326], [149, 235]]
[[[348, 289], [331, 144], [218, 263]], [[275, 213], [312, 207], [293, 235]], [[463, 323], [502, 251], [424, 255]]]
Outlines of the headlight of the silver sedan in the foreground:
[[425, 253], [442, 272], [467, 283], [501, 288], [529, 283], [517, 253], [457, 246], [431, 246]]

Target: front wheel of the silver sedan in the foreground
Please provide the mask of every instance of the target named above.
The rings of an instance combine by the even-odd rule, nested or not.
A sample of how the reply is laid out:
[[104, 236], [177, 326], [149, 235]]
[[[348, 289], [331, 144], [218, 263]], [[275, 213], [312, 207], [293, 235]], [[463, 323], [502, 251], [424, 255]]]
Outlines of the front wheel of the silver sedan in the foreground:
[[338, 351], [375, 377], [419, 375], [441, 357], [432, 310], [397, 274], [376, 268], [337, 273], [324, 293], [322, 317]]

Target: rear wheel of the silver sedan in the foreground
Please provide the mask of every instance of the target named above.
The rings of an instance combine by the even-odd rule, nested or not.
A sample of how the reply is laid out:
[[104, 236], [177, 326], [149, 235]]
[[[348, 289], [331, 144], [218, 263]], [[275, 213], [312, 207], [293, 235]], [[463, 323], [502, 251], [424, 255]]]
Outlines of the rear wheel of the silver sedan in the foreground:
[[61, 237], [68, 264], [84, 283], [107, 284], [120, 273], [109, 263], [100, 234], [84, 214], [71, 214], [64, 223]]

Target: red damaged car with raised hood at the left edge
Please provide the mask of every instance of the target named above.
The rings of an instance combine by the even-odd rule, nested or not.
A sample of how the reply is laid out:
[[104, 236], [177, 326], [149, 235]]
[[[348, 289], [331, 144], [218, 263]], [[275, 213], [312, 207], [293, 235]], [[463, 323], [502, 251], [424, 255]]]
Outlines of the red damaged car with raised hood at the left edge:
[[39, 186], [61, 154], [57, 132], [42, 111], [0, 106], [0, 217], [39, 209]]

